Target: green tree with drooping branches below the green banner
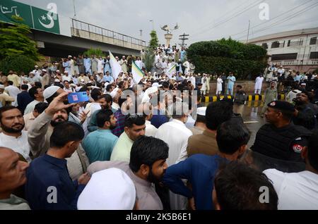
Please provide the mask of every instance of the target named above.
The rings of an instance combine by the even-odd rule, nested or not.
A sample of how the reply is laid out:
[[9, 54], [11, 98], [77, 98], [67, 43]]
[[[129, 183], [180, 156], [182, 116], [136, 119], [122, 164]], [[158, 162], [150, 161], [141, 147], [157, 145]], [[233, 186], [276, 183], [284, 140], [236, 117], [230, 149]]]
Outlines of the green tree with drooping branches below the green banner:
[[[18, 21], [23, 18], [13, 15]], [[15, 23], [6, 25], [0, 22], [0, 60], [7, 56], [23, 55], [34, 61], [40, 61], [40, 54], [37, 51], [36, 43], [28, 36], [31, 30], [28, 25]]]

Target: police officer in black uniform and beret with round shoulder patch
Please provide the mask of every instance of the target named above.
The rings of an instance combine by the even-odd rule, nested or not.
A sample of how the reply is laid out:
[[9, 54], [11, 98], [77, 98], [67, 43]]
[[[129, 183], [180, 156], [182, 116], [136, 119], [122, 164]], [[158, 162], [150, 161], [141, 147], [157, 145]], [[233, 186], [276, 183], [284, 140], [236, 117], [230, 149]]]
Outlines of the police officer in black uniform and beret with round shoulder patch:
[[252, 151], [284, 161], [302, 162], [301, 151], [307, 147], [312, 132], [291, 122], [295, 108], [285, 101], [268, 104], [265, 117], [269, 124], [257, 132]]

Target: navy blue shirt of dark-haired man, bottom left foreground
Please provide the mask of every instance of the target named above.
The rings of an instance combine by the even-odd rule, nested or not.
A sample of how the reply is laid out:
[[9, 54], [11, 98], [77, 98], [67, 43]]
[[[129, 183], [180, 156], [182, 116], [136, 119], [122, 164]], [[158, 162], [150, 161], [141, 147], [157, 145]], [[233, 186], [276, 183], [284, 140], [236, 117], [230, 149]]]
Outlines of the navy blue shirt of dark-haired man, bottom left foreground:
[[[77, 209], [78, 196], [85, 185], [78, 185], [77, 180], [74, 182], [71, 180], [66, 159], [49, 155], [35, 158], [26, 172], [26, 177], [25, 196], [31, 209]], [[54, 193], [56, 193], [56, 201], [54, 201]]]

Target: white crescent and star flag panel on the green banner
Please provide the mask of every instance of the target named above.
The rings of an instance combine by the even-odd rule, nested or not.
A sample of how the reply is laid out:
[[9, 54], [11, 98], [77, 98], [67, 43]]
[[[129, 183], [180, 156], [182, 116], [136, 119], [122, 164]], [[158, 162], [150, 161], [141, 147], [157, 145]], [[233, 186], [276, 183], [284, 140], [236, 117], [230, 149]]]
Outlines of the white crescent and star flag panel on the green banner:
[[32, 6], [34, 28], [59, 35], [59, 16]]

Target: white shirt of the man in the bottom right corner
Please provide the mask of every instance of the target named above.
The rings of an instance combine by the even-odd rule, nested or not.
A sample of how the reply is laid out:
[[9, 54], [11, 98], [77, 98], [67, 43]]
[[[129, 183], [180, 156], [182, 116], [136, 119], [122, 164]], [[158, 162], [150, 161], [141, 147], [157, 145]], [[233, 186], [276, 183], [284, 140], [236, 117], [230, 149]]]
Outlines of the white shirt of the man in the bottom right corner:
[[310, 171], [283, 173], [264, 170], [278, 194], [279, 210], [318, 209], [318, 175]]

